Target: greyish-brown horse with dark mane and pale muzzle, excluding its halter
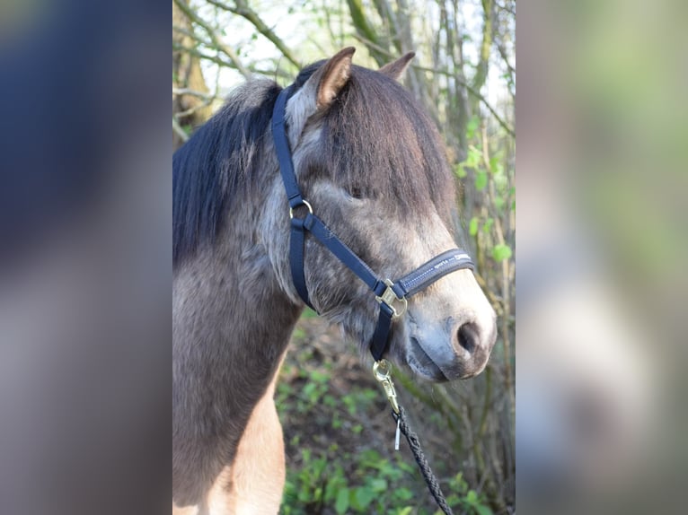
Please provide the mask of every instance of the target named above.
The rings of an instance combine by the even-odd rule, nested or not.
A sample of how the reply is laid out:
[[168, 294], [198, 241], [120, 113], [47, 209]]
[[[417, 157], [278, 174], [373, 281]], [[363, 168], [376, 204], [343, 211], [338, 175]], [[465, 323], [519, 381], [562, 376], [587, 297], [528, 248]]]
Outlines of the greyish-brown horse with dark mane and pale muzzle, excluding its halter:
[[[297, 75], [288, 146], [308, 210], [370, 269], [399, 276], [454, 247], [454, 177], [437, 128], [398, 83], [413, 54], [379, 70], [353, 54]], [[286, 470], [273, 397], [305, 306], [270, 131], [281, 92], [263, 78], [239, 86], [172, 158], [173, 514], [279, 510]], [[310, 234], [302, 274], [313, 309], [365, 346], [379, 299]], [[461, 269], [408, 301], [384, 357], [421, 379], [467, 379], [495, 339], [495, 311]]]

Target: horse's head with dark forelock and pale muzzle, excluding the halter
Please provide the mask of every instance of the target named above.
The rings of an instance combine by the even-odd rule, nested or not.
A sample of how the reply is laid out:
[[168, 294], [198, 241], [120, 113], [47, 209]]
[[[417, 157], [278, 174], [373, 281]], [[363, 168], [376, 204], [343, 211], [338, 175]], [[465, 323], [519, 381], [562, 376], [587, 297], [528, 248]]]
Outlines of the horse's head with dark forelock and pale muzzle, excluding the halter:
[[[353, 65], [353, 53], [345, 48], [298, 75], [285, 109], [288, 143], [313, 211], [376, 274], [399, 277], [455, 247], [454, 176], [434, 123], [397, 82], [413, 55], [374, 71]], [[282, 288], [300, 302], [289, 270], [286, 194], [275, 188], [266, 230], [283, 237], [269, 256]], [[313, 308], [366, 345], [375, 296], [310, 236], [304, 279]], [[408, 301], [387, 354], [428, 380], [469, 378], [488, 362], [495, 319], [472, 271], [457, 270]]]

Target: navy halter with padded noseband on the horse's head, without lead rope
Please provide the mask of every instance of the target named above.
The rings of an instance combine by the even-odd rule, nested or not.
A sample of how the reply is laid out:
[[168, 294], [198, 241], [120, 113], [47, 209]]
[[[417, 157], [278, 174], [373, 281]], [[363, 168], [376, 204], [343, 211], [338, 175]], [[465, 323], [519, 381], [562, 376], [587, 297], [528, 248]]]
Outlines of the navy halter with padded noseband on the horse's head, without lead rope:
[[[313, 207], [301, 196], [301, 190], [296, 183], [294, 163], [291, 159], [287, 128], [285, 127], [285, 107], [293, 87], [291, 85], [279, 93], [275, 108], [272, 111], [272, 136], [278, 154], [279, 170], [289, 199], [289, 216], [291, 218], [289, 261], [292, 280], [296, 292], [308, 306], [313, 308], [308, 298], [304, 277], [305, 231], [309, 231], [375, 293], [375, 300], [380, 304], [380, 314], [375, 333], [370, 341], [370, 353], [378, 362], [387, 350], [392, 320], [401, 317], [404, 313], [409, 297], [435, 283], [440, 277], [463, 268], [473, 270], [474, 266], [470, 256], [463, 250], [451, 249], [430, 259], [427, 263], [395, 282], [389, 279], [383, 280], [375, 275], [370, 266], [367, 266], [336, 234], [328, 229], [327, 225], [313, 214]], [[294, 216], [295, 208], [300, 206], [305, 206], [308, 209], [308, 214], [304, 218]], [[395, 303], [397, 307], [394, 306]]]

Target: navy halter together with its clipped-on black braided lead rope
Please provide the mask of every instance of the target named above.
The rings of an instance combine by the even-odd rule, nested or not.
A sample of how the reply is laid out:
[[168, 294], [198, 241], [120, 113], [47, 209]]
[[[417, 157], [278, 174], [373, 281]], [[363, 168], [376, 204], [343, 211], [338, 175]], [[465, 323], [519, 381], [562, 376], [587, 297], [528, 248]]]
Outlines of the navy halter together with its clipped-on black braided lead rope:
[[[390, 377], [390, 365], [384, 360], [392, 330], [393, 319], [398, 319], [406, 311], [408, 300], [412, 295], [425, 290], [430, 284], [435, 283], [441, 277], [464, 268], [473, 269], [471, 257], [461, 249], [446, 250], [442, 254], [430, 259], [419, 266], [410, 274], [402, 276], [396, 282], [390, 279], [382, 279], [373, 272], [370, 266], [356, 253], [349, 249], [346, 243], [330, 230], [318, 216], [313, 214], [313, 206], [308, 203], [298, 187], [294, 163], [291, 158], [291, 149], [287, 139], [286, 127], [286, 107], [287, 100], [295, 86], [282, 90], [275, 101], [272, 111], [272, 135], [275, 143], [275, 151], [279, 161], [279, 171], [282, 176], [287, 198], [289, 202], [289, 217], [291, 218], [291, 233], [289, 241], [289, 266], [291, 268], [292, 281], [296, 292], [301, 299], [313, 308], [308, 296], [308, 289], [305, 284], [304, 274], [304, 254], [306, 232], [311, 234], [324, 247], [348, 267], [357, 277], [363, 281], [368, 288], [375, 293], [375, 300], [380, 304], [375, 332], [369, 343], [370, 353], [373, 354], [375, 365], [373, 371], [375, 379], [380, 381], [384, 391], [393, 407], [393, 415], [397, 423], [396, 447], [398, 449], [399, 432], [402, 432], [409, 441], [409, 446], [414, 458], [420, 467], [420, 472], [428, 483], [428, 489], [432, 493], [435, 501], [446, 515], [451, 515], [452, 511], [445, 501], [445, 496], [439, 488], [437, 478], [432, 473], [420, 449], [418, 436], [411, 431], [409, 423], [403, 409], [396, 402], [396, 393]], [[304, 208], [307, 212], [303, 218], [294, 216], [297, 208]]]

